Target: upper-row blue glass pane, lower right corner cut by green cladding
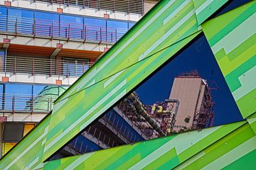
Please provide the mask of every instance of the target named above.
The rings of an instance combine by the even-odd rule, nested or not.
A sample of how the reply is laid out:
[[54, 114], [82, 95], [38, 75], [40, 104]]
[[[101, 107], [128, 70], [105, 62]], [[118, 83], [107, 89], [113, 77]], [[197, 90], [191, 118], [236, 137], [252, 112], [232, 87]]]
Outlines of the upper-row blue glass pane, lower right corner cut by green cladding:
[[128, 23], [124, 21], [107, 21], [107, 40], [117, 42], [128, 30]]

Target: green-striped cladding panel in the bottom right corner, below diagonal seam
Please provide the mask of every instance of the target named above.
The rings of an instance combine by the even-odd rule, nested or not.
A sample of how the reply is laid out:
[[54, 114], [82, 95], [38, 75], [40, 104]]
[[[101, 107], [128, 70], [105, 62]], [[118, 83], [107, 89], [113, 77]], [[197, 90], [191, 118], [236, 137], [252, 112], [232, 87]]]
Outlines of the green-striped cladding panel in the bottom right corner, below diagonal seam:
[[[221, 138], [213, 145], [210, 145], [201, 152], [193, 155], [186, 162], [176, 166], [178, 169], [223, 169], [233, 162], [237, 162], [250, 152], [255, 152], [256, 136], [255, 132], [246, 123], [240, 128], [233, 130], [225, 137]], [[246, 169], [255, 164], [255, 157], [249, 158], [247, 165], [240, 164], [235, 169]]]

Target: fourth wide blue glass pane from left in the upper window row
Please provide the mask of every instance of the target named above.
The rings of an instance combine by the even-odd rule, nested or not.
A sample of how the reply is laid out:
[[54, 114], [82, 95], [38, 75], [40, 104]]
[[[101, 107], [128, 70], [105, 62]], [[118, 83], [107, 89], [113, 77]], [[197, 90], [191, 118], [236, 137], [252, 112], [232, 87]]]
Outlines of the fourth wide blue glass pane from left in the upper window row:
[[85, 22], [85, 39], [89, 41], [106, 40], [106, 21], [97, 18], [84, 18]]

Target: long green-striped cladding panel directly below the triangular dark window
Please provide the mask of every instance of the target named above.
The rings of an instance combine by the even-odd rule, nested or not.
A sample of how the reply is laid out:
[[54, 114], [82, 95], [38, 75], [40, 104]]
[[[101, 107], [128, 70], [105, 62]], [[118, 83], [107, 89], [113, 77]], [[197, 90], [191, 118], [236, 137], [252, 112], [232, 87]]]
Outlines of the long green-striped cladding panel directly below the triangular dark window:
[[236, 132], [238, 128], [245, 126], [245, 123], [243, 121], [185, 132], [134, 145], [58, 159], [47, 162], [44, 169], [171, 169], [233, 131]]

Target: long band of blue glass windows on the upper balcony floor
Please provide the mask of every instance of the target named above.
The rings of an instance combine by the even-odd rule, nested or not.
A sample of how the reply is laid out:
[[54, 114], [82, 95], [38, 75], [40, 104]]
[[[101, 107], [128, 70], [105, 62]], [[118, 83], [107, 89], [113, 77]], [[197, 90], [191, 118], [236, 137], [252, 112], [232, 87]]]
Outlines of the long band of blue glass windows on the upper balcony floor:
[[[8, 17], [7, 17], [8, 16]], [[116, 42], [134, 23], [0, 7], [0, 30], [84, 42]]]

